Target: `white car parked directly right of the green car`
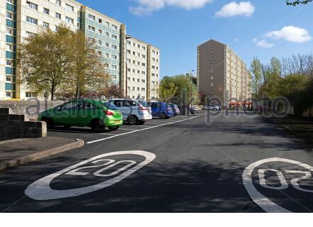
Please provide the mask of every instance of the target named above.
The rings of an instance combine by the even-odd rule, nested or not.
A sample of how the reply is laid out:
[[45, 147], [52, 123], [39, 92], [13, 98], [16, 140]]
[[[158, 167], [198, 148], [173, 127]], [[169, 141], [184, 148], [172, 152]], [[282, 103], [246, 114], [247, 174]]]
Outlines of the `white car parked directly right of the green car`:
[[151, 111], [139, 101], [132, 99], [112, 99], [108, 101], [114, 104], [123, 114], [123, 121], [130, 125], [144, 124], [146, 121], [152, 119]]

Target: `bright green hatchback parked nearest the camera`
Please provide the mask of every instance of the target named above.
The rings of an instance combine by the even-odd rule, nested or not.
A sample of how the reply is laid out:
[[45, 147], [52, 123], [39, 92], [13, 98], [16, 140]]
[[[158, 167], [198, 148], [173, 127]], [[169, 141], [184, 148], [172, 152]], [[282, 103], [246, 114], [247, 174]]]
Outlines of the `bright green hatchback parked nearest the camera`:
[[45, 121], [48, 128], [90, 126], [91, 131], [101, 133], [106, 127], [110, 131], [118, 130], [123, 124], [123, 115], [113, 104], [86, 99], [68, 101], [48, 109], [39, 114], [38, 121]]

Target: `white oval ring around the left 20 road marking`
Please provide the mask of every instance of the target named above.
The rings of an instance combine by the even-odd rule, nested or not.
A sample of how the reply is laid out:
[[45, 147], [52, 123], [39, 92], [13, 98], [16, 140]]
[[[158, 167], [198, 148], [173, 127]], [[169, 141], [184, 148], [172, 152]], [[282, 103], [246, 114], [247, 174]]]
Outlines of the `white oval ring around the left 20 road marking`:
[[[105, 182], [101, 182], [99, 184], [94, 184], [88, 187], [81, 187], [81, 188], [76, 188], [76, 189], [67, 189], [67, 190], [51, 189], [50, 183], [56, 177], [66, 174], [69, 171], [75, 170], [76, 168], [79, 168], [82, 165], [86, 165], [89, 162], [93, 162], [99, 158], [113, 156], [113, 155], [141, 155], [145, 157], [145, 160], [143, 162], [140, 162], [138, 165], [135, 165], [135, 167], [132, 167], [130, 170], [127, 170], [123, 172], [122, 174], [118, 175], [117, 177], [108, 179]], [[83, 194], [96, 192], [100, 189], [110, 187], [113, 184], [116, 184], [120, 182], [121, 180], [125, 179], [126, 177], [129, 177], [137, 170], [140, 170], [142, 167], [152, 162], [155, 158], [156, 158], [156, 155], [154, 155], [153, 153], [149, 153], [147, 151], [143, 151], [143, 150], [119, 151], [119, 152], [107, 153], [104, 155], [98, 155], [96, 157], [91, 157], [89, 160], [85, 160], [83, 162], [79, 162], [76, 165], [67, 167], [64, 170], [60, 170], [59, 172], [55, 172], [52, 175], [48, 175], [47, 177], [38, 179], [38, 181], [33, 182], [33, 184], [30, 184], [27, 187], [27, 189], [25, 189], [25, 194], [31, 199], [35, 199], [35, 200], [50, 200], [50, 199], [64, 199], [68, 197], [81, 196]], [[99, 175], [99, 174], [100, 172], [96, 172], [96, 175]]]

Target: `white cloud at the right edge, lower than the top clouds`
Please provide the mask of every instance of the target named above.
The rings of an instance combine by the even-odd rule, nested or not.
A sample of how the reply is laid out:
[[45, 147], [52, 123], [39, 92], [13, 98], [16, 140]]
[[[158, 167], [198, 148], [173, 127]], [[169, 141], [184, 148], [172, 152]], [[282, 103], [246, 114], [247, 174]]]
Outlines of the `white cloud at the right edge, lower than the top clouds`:
[[298, 28], [295, 26], [285, 26], [279, 31], [271, 31], [266, 34], [268, 38], [274, 38], [276, 40], [287, 40], [292, 43], [305, 43], [312, 40], [309, 32], [305, 28]]

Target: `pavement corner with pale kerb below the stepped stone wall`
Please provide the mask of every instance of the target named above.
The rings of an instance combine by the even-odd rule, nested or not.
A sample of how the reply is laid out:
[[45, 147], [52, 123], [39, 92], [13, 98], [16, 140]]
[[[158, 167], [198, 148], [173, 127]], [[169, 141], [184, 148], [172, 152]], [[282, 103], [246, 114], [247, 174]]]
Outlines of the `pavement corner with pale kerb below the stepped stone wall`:
[[0, 142], [0, 171], [83, 145], [83, 140], [57, 137], [4, 140]]

